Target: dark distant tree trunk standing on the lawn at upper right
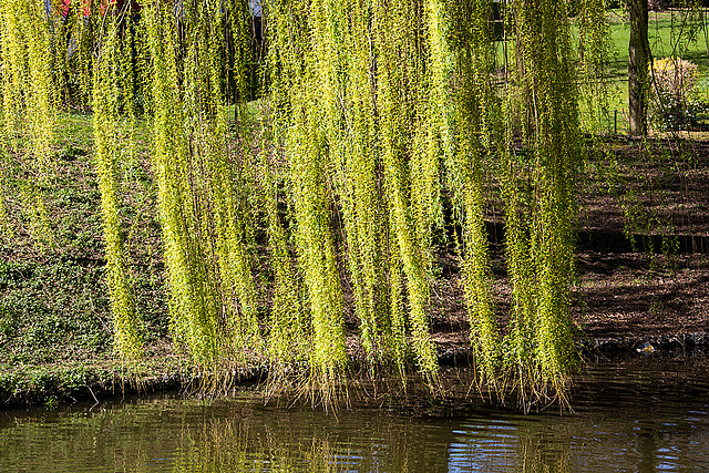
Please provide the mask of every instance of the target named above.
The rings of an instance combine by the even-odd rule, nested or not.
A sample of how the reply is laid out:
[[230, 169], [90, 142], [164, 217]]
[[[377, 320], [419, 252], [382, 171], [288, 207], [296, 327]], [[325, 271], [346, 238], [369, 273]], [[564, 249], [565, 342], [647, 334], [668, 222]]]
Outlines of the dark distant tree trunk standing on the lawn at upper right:
[[629, 0], [630, 45], [628, 49], [628, 114], [630, 116], [630, 136], [645, 136], [647, 133], [648, 64], [650, 62], [650, 42], [648, 30], [648, 0]]

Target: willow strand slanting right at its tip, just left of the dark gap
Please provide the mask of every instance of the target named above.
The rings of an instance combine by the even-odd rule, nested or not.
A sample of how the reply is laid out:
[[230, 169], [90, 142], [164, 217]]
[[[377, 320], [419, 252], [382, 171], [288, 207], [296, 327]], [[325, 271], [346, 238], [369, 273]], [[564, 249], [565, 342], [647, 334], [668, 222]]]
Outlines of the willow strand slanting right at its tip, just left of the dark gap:
[[[376, 4], [376, 45], [378, 49], [378, 109], [381, 165], [383, 168], [383, 198], [389, 217], [389, 258], [392, 271], [405, 276], [410, 330], [417, 364], [427, 374], [436, 377], [438, 363], [431, 342], [427, 306], [429, 304], [428, 267], [430, 253], [419, 241], [423, 232], [421, 219], [427, 217], [431, 203], [425, 191], [417, 192], [415, 171], [436, 163], [421, 163], [431, 155], [417, 153], [414, 137], [420, 112], [425, 103], [424, 80], [427, 51], [422, 4], [382, 1]], [[435, 173], [430, 173], [435, 174]], [[418, 198], [417, 198], [418, 197]], [[419, 222], [417, 222], [419, 220]], [[428, 239], [428, 238], [427, 238]], [[397, 268], [399, 266], [399, 268]], [[394, 280], [399, 277], [394, 278]], [[399, 288], [393, 288], [398, 291]], [[394, 298], [395, 300], [395, 298]], [[394, 307], [393, 310], [399, 310]], [[395, 313], [395, 312], [394, 312]], [[392, 317], [395, 320], [395, 317]]]

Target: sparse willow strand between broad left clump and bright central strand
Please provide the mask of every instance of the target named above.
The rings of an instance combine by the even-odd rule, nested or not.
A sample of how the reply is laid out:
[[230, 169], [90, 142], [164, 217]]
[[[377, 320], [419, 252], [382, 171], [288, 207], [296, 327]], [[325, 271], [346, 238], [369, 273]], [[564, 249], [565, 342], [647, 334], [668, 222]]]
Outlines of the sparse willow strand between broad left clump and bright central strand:
[[[310, 304], [301, 268], [297, 264], [299, 251], [294, 248], [291, 179], [284, 169], [291, 110], [289, 91], [301, 70], [304, 38], [307, 29], [297, 27], [304, 19], [299, 14], [302, 2], [268, 2], [271, 12], [269, 28], [268, 69], [270, 100], [266, 110], [267, 124], [261, 130], [263, 193], [269, 243], [269, 263], [274, 275], [274, 297], [268, 333], [268, 356], [271, 380], [278, 387], [292, 380], [295, 363], [311, 363], [314, 349]], [[291, 29], [291, 27], [295, 27]], [[289, 31], [290, 34], [282, 34]], [[278, 64], [278, 68], [275, 66]], [[275, 148], [275, 150], [274, 150]], [[289, 208], [290, 207], [290, 208]], [[288, 208], [288, 212], [282, 212]], [[285, 215], [284, 215], [285, 214]], [[338, 371], [339, 376], [340, 372]], [[298, 381], [296, 381], [298, 382]], [[328, 388], [325, 388], [326, 395]]]

